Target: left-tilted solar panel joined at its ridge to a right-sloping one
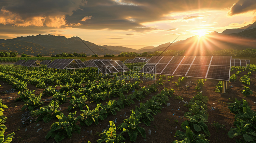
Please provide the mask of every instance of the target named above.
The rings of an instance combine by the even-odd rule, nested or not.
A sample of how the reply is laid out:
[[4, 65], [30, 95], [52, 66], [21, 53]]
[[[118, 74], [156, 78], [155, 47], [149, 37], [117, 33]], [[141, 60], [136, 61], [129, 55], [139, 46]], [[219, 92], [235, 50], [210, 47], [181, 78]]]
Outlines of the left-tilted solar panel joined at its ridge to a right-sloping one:
[[46, 68], [65, 69], [74, 59], [55, 59]]

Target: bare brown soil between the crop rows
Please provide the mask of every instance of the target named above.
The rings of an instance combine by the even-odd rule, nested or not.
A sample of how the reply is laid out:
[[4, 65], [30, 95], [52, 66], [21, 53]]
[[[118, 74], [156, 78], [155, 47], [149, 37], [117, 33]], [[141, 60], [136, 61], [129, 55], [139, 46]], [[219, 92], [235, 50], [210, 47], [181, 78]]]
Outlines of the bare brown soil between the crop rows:
[[[234, 74], [236, 71], [231, 72], [231, 74]], [[204, 82], [204, 86], [201, 89], [201, 92], [203, 95], [209, 97], [209, 102], [207, 104], [208, 109], [213, 108], [214, 110], [208, 110], [209, 119], [208, 119], [208, 128], [211, 133], [210, 137], [207, 137], [210, 142], [213, 143], [219, 143], [219, 142], [235, 142], [235, 139], [230, 139], [227, 135], [228, 131], [230, 130], [230, 127], [233, 127], [234, 122], [234, 114], [230, 113], [230, 110], [227, 108], [227, 103], [231, 103], [234, 101], [234, 99], [245, 99], [248, 102], [248, 105], [251, 107], [252, 110], [256, 111], [256, 77], [255, 73], [250, 76], [251, 78], [251, 85], [248, 85], [248, 87], [253, 91], [253, 95], [249, 95], [247, 97], [244, 97], [241, 93], [243, 84], [240, 83], [239, 79], [241, 76], [247, 74], [248, 71], [241, 71], [239, 75], [237, 75], [237, 81], [235, 82], [229, 82], [229, 89], [226, 90], [226, 93], [217, 93], [215, 92], [215, 86], [217, 85], [218, 81], [207, 79], [207, 81]], [[173, 88], [175, 90], [175, 93], [172, 97], [169, 98], [168, 103], [171, 105], [163, 106], [161, 113], [158, 113], [157, 115], [153, 115], [154, 121], [151, 122], [151, 126], [146, 126], [145, 124], [140, 124], [141, 127], [145, 128], [146, 131], [146, 141], [143, 141], [143, 138], [141, 135], [138, 135], [136, 142], [147, 142], [147, 143], [171, 143], [172, 141], [178, 139], [175, 138], [175, 132], [177, 130], [181, 129], [181, 123], [185, 121], [186, 119], [183, 118], [183, 115], [186, 111], [188, 111], [188, 107], [184, 106], [184, 102], [181, 102], [179, 100], [174, 100], [174, 96], [181, 96], [183, 100], [186, 102], [189, 102], [189, 100], [196, 95], [196, 80], [197, 78], [186, 78], [185, 83], [183, 83], [182, 87], [177, 88], [174, 86], [174, 82], [176, 82], [178, 77], [174, 77], [170, 82], [163, 83], [162, 86], [157, 86], [157, 88], [161, 91], [164, 87], [167, 88]], [[151, 85], [154, 81], [143, 81], [141, 86]], [[13, 91], [12, 86], [4, 83], [3, 81], [0, 81], [0, 98], [3, 100], [3, 104], [7, 105], [9, 108], [4, 109], [3, 113], [8, 118], [6, 120], [6, 127], [7, 130], [5, 131], [5, 136], [15, 132], [15, 138], [13, 139], [12, 143], [49, 143], [49, 142], [55, 142], [53, 138], [49, 138], [47, 141], [44, 138], [47, 134], [47, 132], [50, 130], [51, 125], [54, 122], [57, 122], [57, 119], [51, 120], [49, 123], [44, 123], [43, 121], [39, 121], [38, 123], [35, 122], [29, 122], [26, 121], [24, 124], [22, 124], [21, 119], [22, 115], [25, 114], [26, 111], [22, 111], [21, 108], [24, 105], [24, 102], [17, 101], [15, 102], [15, 99], [19, 97], [18, 91]], [[44, 89], [37, 88], [34, 85], [28, 84], [29, 90], [35, 90], [35, 94], [39, 95], [40, 93], [43, 93]], [[60, 87], [57, 87], [60, 88]], [[151, 93], [150, 95], [155, 95], [158, 92]], [[127, 93], [127, 94], [130, 94]], [[152, 96], [147, 96], [145, 100], [151, 99]], [[50, 99], [52, 97], [50, 96], [42, 96], [41, 101], [44, 102], [43, 106], [47, 106], [50, 101], [45, 101], [45, 99]], [[118, 99], [112, 98], [112, 100]], [[141, 101], [141, 102], [145, 102]], [[102, 101], [102, 104], [105, 104], [108, 102], [109, 99], [106, 98], [105, 101]], [[84, 143], [87, 141], [91, 141], [92, 143], [96, 143], [96, 140], [100, 139], [101, 136], [98, 136], [98, 133], [101, 133], [102, 130], [109, 125], [109, 121], [114, 121], [117, 119], [117, 123], [115, 123], [116, 126], [118, 126], [122, 121], [129, 117], [131, 113], [131, 109], [135, 109], [135, 106], [139, 106], [139, 101], [136, 101], [136, 104], [131, 105], [130, 107], [125, 106], [125, 109], [121, 109], [121, 111], [117, 111], [117, 115], [109, 115], [107, 119], [103, 121], [99, 121], [98, 125], [95, 125], [94, 123], [90, 126], [80, 126], [81, 127], [81, 133], [72, 133], [71, 138], [65, 138], [61, 141], [61, 143]], [[60, 105], [62, 112], [67, 116], [69, 111], [67, 110], [70, 103], [65, 103]], [[90, 109], [94, 109], [96, 107], [96, 103], [89, 103], [88, 106]], [[71, 112], [75, 112], [76, 116], [78, 116], [81, 111], [79, 109], [73, 109]], [[183, 111], [183, 112], [182, 112]], [[125, 116], [124, 116], [125, 115]], [[28, 116], [26, 116], [27, 118]], [[179, 118], [180, 117], [180, 118]], [[178, 122], [175, 122], [174, 120], [177, 120]], [[223, 128], [216, 128], [213, 123], [220, 123], [223, 124], [225, 127]], [[37, 124], [40, 124], [39, 126], [36, 126]], [[27, 131], [25, 131], [27, 129]], [[38, 129], [40, 129], [38, 131]], [[148, 135], [148, 130], [152, 130], [151, 135]], [[92, 135], [89, 135], [87, 131], [92, 130]], [[37, 132], [38, 131], [38, 132]], [[183, 130], [182, 130], [183, 131]], [[128, 134], [123, 134], [126, 137], [128, 137]], [[129, 139], [125, 142], [130, 142]]]

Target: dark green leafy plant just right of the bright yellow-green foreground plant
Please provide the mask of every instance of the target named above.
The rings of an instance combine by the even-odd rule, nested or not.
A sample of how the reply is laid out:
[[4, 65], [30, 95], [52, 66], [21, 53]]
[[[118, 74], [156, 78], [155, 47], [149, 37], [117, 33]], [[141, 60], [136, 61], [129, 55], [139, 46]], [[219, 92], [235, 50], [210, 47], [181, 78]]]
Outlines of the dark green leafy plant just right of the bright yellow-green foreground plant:
[[145, 129], [139, 126], [139, 119], [135, 117], [134, 111], [131, 110], [131, 115], [129, 119], [125, 119], [124, 122], [118, 125], [117, 129], [127, 129], [128, 135], [130, 137], [130, 141], [136, 142], [137, 136], [139, 133], [143, 138], [146, 138]]

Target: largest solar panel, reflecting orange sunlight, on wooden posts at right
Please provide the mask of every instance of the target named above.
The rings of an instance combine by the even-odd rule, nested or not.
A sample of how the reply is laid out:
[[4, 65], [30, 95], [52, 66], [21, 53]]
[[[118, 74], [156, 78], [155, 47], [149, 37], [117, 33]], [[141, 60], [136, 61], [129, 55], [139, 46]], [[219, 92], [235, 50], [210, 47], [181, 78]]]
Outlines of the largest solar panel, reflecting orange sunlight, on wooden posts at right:
[[229, 81], [231, 56], [153, 56], [142, 73]]

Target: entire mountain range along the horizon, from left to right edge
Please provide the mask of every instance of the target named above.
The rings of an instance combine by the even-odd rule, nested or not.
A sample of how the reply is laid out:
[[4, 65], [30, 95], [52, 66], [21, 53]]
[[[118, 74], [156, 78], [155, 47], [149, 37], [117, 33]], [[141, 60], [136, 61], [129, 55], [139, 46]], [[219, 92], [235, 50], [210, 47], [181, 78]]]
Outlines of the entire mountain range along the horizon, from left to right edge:
[[[167, 48], [168, 47], [168, 48]], [[164, 50], [186, 50], [197, 52], [202, 49], [256, 49], [256, 22], [238, 29], [226, 29], [222, 33], [212, 32], [203, 37], [193, 36], [175, 43], [163, 43], [157, 47], [148, 46], [139, 50], [122, 46], [99, 46], [79, 37], [37, 35], [0, 39], [0, 51], [27, 55], [56, 55], [66, 53], [85, 53], [86, 55], [119, 54], [121, 52], [154, 52]]]

